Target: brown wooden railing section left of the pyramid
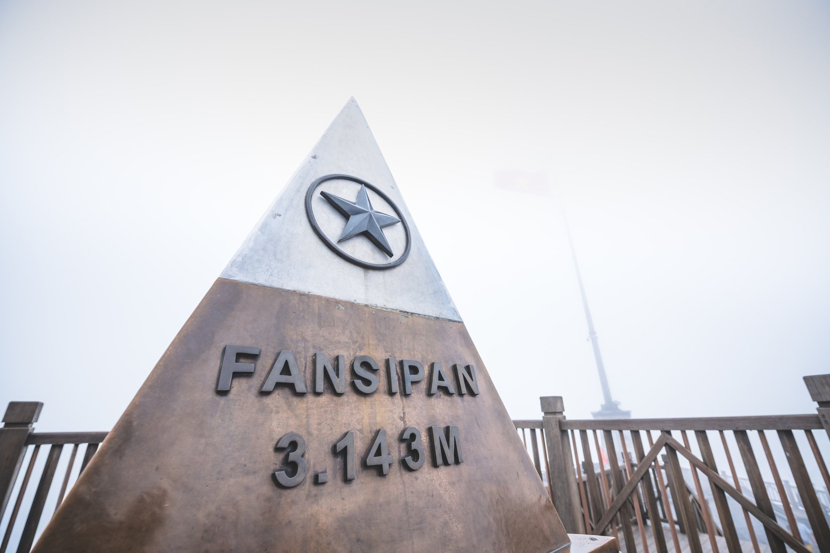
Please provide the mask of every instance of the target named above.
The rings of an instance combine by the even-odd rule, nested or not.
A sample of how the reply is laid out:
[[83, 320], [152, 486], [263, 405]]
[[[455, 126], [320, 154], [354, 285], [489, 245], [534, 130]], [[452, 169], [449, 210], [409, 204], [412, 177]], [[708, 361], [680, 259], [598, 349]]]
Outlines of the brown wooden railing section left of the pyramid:
[[[12, 401], [8, 404], [0, 428], [0, 553], [17, 551], [28, 553], [39, 531], [43, 530], [52, 514], [61, 505], [66, 490], [90, 462], [104, 441], [105, 432], [35, 433], [43, 404]], [[65, 448], [65, 446], [72, 446]], [[82, 457], [79, 458], [79, 453]], [[46, 450], [45, 457], [41, 449]], [[80, 461], [79, 461], [80, 459]], [[22, 473], [21, 468], [26, 467]], [[53, 487], [56, 474], [61, 487]], [[37, 481], [32, 490], [29, 482]], [[15, 497], [11, 511], [6, 507]], [[25, 520], [20, 516], [25, 508]], [[46, 509], [46, 507], [49, 507]], [[8, 546], [12, 544], [12, 549]]]

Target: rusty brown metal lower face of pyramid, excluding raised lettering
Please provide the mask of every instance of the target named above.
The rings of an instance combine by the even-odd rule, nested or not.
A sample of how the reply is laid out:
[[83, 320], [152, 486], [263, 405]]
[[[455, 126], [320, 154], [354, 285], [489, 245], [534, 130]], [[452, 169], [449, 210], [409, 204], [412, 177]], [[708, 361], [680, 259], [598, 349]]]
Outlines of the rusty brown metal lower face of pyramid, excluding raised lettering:
[[[254, 374], [218, 394], [229, 344], [261, 354]], [[294, 353], [307, 394], [261, 393], [280, 350]], [[317, 351], [373, 357], [378, 390], [315, 394]], [[481, 393], [429, 395], [427, 369], [413, 394], [389, 394], [389, 356], [474, 365]], [[459, 430], [463, 462], [435, 467], [427, 428], [447, 425]], [[427, 454], [417, 471], [400, 462], [408, 427]], [[334, 443], [354, 431], [360, 459], [379, 429], [388, 475], [359, 465], [344, 482]], [[287, 433], [307, 444], [308, 476], [290, 489], [271, 479], [285, 467], [275, 445]], [[218, 279], [34, 551], [553, 551], [568, 536], [523, 449], [462, 323]], [[322, 470], [328, 482], [315, 484]]]

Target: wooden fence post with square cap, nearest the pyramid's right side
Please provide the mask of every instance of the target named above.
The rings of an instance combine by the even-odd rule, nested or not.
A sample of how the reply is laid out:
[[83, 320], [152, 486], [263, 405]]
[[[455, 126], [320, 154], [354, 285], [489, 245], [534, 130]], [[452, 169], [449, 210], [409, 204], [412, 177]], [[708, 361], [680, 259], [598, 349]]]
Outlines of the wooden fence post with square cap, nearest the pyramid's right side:
[[545, 396], [540, 398], [540, 403], [554, 507], [569, 534], [584, 534], [585, 527], [580, 512], [582, 506], [579, 503], [579, 488], [574, 472], [574, 454], [571, 452], [568, 431], [561, 426], [565, 419], [562, 396]]

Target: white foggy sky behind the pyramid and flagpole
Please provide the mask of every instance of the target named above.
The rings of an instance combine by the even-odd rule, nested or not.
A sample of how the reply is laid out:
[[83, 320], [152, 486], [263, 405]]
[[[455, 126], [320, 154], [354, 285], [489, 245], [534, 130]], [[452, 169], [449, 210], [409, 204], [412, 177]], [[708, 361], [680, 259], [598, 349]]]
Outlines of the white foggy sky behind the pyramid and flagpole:
[[111, 428], [351, 95], [514, 418], [602, 402], [563, 210], [624, 409], [813, 412], [830, 4], [783, 0], [0, 2], [0, 406]]

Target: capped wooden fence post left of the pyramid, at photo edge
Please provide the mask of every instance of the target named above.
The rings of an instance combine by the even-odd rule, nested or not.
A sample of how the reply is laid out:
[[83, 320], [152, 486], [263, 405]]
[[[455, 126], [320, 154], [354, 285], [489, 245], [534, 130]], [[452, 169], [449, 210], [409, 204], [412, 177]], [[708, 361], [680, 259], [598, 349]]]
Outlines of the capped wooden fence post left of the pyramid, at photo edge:
[[17, 480], [17, 472], [26, 453], [26, 438], [37, 422], [43, 404], [39, 401], [11, 401], [0, 428], [0, 518], [6, 512], [8, 498]]

